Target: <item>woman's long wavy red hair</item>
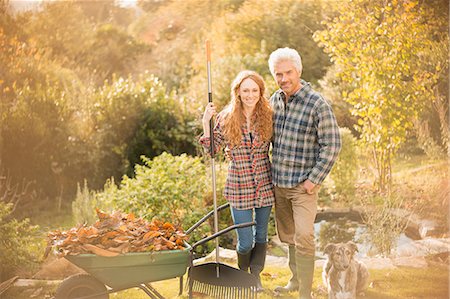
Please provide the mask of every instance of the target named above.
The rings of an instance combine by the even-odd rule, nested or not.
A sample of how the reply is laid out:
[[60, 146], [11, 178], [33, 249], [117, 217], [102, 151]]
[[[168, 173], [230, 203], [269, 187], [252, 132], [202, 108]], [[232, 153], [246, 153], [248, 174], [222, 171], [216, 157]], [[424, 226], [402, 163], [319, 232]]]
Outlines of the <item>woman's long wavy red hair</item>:
[[264, 96], [264, 79], [254, 71], [242, 71], [231, 84], [231, 101], [224, 109], [223, 133], [225, 139], [233, 147], [241, 144], [242, 126], [246, 124], [242, 101], [239, 96], [239, 88], [242, 82], [250, 78], [259, 86], [260, 97], [251, 116], [251, 130], [256, 131], [261, 141], [270, 141], [272, 138], [272, 108]]

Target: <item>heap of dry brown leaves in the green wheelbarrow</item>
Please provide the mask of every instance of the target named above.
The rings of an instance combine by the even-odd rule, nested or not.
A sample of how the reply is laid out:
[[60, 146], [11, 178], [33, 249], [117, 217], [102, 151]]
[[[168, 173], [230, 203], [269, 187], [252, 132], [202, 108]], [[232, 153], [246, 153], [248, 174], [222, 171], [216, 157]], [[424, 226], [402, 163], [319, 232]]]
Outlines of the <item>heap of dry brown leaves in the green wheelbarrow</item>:
[[96, 210], [99, 220], [92, 226], [81, 225], [68, 231], [48, 234], [46, 256], [52, 248], [58, 256], [95, 253], [116, 256], [127, 252], [184, 249], [186, 234], [173, 224], [148, 222], [133, 214]]

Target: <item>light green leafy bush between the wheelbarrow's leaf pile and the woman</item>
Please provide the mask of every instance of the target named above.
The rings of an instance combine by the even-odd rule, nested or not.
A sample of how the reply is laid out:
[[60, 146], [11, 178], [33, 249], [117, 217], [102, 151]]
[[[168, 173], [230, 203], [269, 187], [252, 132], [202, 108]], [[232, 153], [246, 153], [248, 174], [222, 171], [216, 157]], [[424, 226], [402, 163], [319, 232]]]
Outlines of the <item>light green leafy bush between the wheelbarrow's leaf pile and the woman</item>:
[[[132, 212], [147, 220], [158, 218], [170, 221], [185, 230], [212, 209], [208, 166], [202, 163], [200, 157], [163, 153], [153, 160], [142, 156], [142, 160], [144, 165], [135, 166], [133, 178], [124, 176], [119, 186], [114, 180], [109, 180], [104, 190], [95, 194], [94, 199], [85, 197], [96, 201], [100, 207]], [[224, 170], [218, 167], [219, 202], [223, 202], [219, 188], [224, 185]], [[211, 222], [207, 222], [196, 229], [190, 235], [189, 242], [192, 244], [210, 233], [211, 225]], [[211, 244], [199, 248], [199, 251], [209, 250], [213, 242], [208, 243]]]

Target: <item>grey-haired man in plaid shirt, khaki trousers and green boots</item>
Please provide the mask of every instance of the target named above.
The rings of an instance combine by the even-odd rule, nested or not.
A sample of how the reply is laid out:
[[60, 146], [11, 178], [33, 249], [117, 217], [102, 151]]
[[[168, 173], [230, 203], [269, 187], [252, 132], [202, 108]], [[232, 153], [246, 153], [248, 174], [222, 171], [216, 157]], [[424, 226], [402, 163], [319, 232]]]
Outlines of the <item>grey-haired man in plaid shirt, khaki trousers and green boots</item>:
[[299, 290], [300, 298], [311, 298], [318, 189], [341, 148], [339, 128], [330, 105], [300, 79], [296, 50], [277, 49], [268, 62], [280, 88], [270, 99], [276, 225], [280, 240], [289, 245], [292, 272], [289, 283], [275, 291]]

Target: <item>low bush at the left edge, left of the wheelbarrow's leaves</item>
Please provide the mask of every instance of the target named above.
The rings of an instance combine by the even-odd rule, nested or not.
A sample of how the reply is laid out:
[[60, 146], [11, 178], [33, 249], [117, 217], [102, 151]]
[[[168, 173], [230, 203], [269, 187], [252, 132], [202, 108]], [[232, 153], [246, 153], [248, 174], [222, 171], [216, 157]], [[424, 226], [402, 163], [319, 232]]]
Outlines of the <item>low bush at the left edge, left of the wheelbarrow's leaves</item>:
[[19, 269], [26, 270], [36, 261], [32, 245], [38, 227], [30, 225], [28, 219], [13, 218], [12, 207], [0, 202], [0, 281], [12, 277]]

